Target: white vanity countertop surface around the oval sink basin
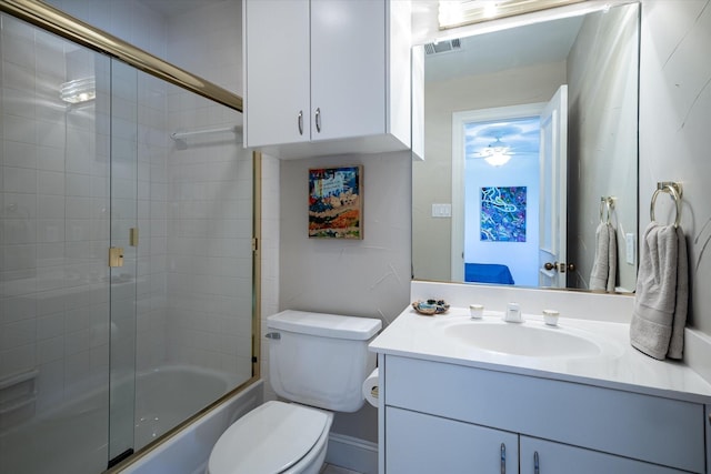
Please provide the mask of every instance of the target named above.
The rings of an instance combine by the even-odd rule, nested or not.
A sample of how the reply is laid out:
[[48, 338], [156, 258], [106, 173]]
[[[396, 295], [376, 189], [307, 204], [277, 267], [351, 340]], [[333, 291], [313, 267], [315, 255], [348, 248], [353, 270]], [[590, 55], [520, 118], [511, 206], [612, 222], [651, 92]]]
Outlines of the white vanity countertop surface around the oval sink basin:
[[[524, 314], [521, 324], [543, 326], [542, 316]], [[540, 357], [484, 351], [442, 336], [450, 323], [498, 322], [493, 312], [471, 320], [469, 309], [451, 307], [445, 314], [424, 316], [408, 306], [371, 344], [380, 354], [401, 355], [499, 372], [584, 383], [697, 403], [711, 403], [711, 384], [683, 362], [658, 361], [629, 342], [629, 324], [561, 317], [561, 331], [589, 333], [603, 344], [602, 355]], [[517, 324], [517, 323], [503, 323]]]

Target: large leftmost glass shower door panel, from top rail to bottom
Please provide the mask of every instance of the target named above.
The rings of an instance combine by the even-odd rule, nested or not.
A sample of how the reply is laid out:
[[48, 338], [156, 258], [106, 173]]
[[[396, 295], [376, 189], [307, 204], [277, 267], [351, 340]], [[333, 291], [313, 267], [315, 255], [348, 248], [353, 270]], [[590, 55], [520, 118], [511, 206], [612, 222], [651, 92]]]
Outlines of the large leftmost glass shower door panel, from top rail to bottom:
[[2, 14], [0, 69], [0, 472], [102, 472], [109, 60]]

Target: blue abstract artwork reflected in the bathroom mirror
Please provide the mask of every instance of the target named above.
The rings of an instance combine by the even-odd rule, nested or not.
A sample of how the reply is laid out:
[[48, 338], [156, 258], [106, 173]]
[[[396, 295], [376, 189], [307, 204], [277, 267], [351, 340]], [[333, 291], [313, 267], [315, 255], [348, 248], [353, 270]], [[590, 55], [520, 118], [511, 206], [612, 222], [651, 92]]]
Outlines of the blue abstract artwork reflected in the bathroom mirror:
[[525, 242], [525, 186], [481, 189], [481, 241]]

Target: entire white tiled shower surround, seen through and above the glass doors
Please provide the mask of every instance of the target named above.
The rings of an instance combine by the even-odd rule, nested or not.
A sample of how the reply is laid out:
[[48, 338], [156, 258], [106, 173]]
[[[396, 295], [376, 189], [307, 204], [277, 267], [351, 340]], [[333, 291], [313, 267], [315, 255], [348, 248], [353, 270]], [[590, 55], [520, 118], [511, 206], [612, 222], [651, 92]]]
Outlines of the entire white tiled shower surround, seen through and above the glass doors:
[[[240, 22], [239, 2], [170, 20], [132, 0], [52, 3], [160, 57], [167, 57], [171, 41], [170, 61], [232, 90], [240, 87], [239, 29], [227, 32], [228, 24]], [[202, 27], [197, 28], [199, 18]], [[197, 28], [191, 34], [198, 47], [179, 41], [186, 24]], [[93, 124], [94, 105], [67, 113], [58, 99], [69, 58], [77, 57], [74, 47], [20, 26], [3, 20], [1, 37], [0, 208], [6, 220], [0, 234], [0, 379], [39, 369], [42, 409], [107, 380], [109, 140], [96, 128], [108, 130], [109, 123], [99, 113]], [[170, 28], [176, 28], [172, 34]], [[210, 33], [201, 37], [199, 31]], [[216, 47], [218, 37], [237, 48], [234, 58], [221, 57], [229, 51]], [[251, 220], [238, 214], [249, 215], [251, 206], [250, 157], [226, 135], [184, 149], [169, 138], [179, 128], [234, 124], [241, 118], [137, 74], [137, 100], [121, 105], [123, 112], [137, 113], [140, 124], [127, 130], [138, 142], [138, 182], [127, 190], [138, 196], [141, 240], [138, 367], [203, 363], [249, 376]], [[186, 272], [188, 266], [192, 273]], [[238, 284], [246, 290], [238, 292]], [[114, 295], [121, 293], [119, 286], [113, 286]], [[169, 303], [169, 295], [180, 302]], [[127, 331], [119, 335], [128, 353], [134, 341]]]

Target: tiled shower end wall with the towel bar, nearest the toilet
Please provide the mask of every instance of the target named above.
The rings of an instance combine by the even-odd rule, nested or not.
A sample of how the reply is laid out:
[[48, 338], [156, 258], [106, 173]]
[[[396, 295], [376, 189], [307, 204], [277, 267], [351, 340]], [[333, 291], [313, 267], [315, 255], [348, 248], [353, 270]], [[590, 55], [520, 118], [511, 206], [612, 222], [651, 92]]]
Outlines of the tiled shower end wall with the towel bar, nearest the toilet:
[[[168, 19], [169, 62], [242, 94], [241, 2]], [[240, 113], [171, 87], [168, 133], [241, 125]], [[251, 153], [234, 134], [171, 143], [168, 301], [171, 363], [251, 376]]]

